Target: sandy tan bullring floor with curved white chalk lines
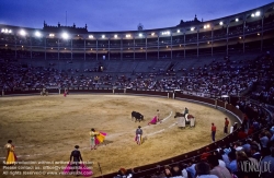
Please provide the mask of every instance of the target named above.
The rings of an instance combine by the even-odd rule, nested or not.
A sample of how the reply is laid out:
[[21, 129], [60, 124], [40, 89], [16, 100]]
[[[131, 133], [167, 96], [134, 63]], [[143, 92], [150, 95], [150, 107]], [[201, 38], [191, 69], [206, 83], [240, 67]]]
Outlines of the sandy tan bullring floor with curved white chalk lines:
[[[179, 129], [174, 123], [175, 111], [183, 111], [184, 107], [196, 118], [196, 127]], [[162, 123], [147, 126], [148, 121], [159, 109]], [[132, 121], [133, 110], [145, 116], [145, 121]], [[98, 163], [103, 174], [117, 171], [119, 167], [133, 168], [144, 164], [155, 163], [168, 157], [198, 149], [212, 142], [210, 123], [217, 126], [217, 140], [224, 137], [224, 118], [230, 115], [220, 110], [187, 103], [158, 97], [129, 95], [61, 95], [49, 96], [19, 96], [0, 98], [0, 174], [2, 177], [53, 177], [24, 176], [23, 171], [44, 171], [45, 174], [61, 173], [43, 166], [65, 166], [52, 162], [68, 162], [76, 144], [84, 162], [92, 167], [94, 176], [100, 176]], [[142, 127], [147, 139], [142, 145], [134, 142], [135, 130]], [[95, 151], [90, 151], [89, 131], [95, 128], [107, 133], [105, 142]], [[13, 140], [15, 153], [22, 162], [50, 162], [41, 165], [18, 165], [8, 171], [2, 161], [7, 155], [3, 145]], [[93, 163], [93, 165], [91, 165]], [[39, 166], [36, 170], [19, 166]], [[20, 168], [24, 168], [20, 169]], [[43, 174], [44, 174], [43, 173]], [[4, 176], [9, 174], [9, 176]], [[30, 173], [33, 174], [33, 173]], [[37, 173], [41, 174], [41, 173]], [[0, 176], [0, 177], [1, 177]], [[54, 176], [71, 177], [71, 176]]]

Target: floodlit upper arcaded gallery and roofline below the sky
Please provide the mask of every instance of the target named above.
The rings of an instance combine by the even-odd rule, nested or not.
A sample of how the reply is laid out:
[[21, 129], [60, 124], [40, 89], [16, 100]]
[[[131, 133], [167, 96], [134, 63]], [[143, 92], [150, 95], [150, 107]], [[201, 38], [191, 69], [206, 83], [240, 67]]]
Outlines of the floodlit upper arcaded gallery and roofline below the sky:
[[203, 22], [128, 32], [89, 32], [88, 26], [28, 28], [0, 24], [1, 56], [35, 60], [170, 60], [273, 48], [273, 3]]

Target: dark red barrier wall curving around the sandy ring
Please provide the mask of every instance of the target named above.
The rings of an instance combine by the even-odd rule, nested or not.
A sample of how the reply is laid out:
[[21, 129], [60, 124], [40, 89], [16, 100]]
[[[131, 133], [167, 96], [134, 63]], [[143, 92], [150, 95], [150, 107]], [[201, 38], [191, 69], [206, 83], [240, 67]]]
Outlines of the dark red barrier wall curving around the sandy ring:
[[[61, 90], [64, 91], [64, 90]], [[31, 88], [25, 91], [2, 91], [2, 94], [4, 93], [4, 96], [11, 96], [11, 95], [39, 95], [41, 88]], [[60, 94], [59, 88], [50, 88], [48, 90], [49, 95], [50, 94]], [[198, 104], [208, 105], [216, 109], [221, 109], [225, 111], [229, 111], [241, 123], [243, 119], [243, 112], [241, 112], [239, 109], [237, 109], [235, 106], [230, 104], [226, 104], [221, 100], [216, 100], [213, 98], [206, 98], [206, 97], [199, 97], [199, 96], [193, 96], [193, 95], [185, 95], [176, 92], [169, 92], [169, 91], [140, 91], [140, 90], [124, 90], [124, 88], [89, 88], [89, 87], [70, 87], [69, 88], [70, 94], [121, 94], [121, 95], [142, 95], [142, 96], [155, 96], [155, 97], [167, 97], [170, 99], [182, 99], [182, 100], [189, 100], [194, 102]], [[209, 145], [205, 145], [198, 150], [168, 158], [158, 163], [144, 165], [139, 167], [135, 167], [135, 170], [137, 170], [136, 176], [142, 177], [146, 175], [150, 175], [156, 173], [159, 168], [162, 169], [163, 165], [172, 165], [175, 163], [182, 163], [182, 162], [190, 162], [193, 158], [199, 158], [199, 155], [205, 151], [206, 147], [209, 147], [210, 151], [214, 151], [220, 146], [227, 145], [228, 143], [231, 143], [237, 140], [238, 130], [232, 132], [231, 134], [227, 135], [226, 138], [216, 141], [215, 143], [212, 143]], [[160, 165], [160, 167], [159, 167]], [[104, 175], [104, 178], [113, 178], [117, 175], [117, 173], [112, 173]]]

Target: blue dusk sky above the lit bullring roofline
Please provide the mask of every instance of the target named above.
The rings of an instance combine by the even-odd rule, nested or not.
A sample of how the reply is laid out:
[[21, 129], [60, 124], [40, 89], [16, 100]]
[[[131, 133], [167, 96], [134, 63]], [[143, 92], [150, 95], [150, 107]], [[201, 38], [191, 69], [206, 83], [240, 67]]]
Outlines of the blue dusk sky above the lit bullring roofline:
[[271, 3], [273, 0], [0, 0], [0, 24], [43, 28], [84, 27], [89, 32], [135, 31], [175, 26], [181, 20], [214, 20]]

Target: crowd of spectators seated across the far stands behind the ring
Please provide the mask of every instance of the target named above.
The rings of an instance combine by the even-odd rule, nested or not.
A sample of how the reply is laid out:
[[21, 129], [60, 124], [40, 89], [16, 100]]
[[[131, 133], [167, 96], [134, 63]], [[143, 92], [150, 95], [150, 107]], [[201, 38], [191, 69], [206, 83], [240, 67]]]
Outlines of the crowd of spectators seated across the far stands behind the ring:
[[[119, 87], [174, 91], [187, 94], [216, 97], [242, 95], [252, 92], [251, 97], [274, 103], [273, 58], [263, 55], [255, 59], [231, 61], [229, 58], [213, 61], [197, 69], [170, 71], [167, 73], [88, 73], [68, 69], [57, 70], [54, 66], [33, 67], [14, 61], [0, 61], [0, 88], [24, 90], [42, 87]], [[172, 69], [171, 69], [172, 70]]]

